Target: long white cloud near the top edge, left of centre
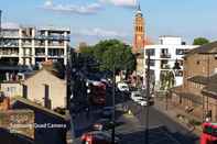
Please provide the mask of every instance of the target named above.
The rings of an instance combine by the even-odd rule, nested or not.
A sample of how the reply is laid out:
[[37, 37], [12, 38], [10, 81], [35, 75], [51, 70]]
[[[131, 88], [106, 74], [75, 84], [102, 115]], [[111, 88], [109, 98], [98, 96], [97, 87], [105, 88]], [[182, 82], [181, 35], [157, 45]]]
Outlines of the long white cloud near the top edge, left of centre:
[[99, 3], [90, 3], [86, 5], [75, 5], [75, 4], [54, 4], [52, 0], [46, 0], [42, 7], [46, 10], [59, 11], [59, 12], [72, 12], [77, 14], [90, 14], [96, 13], [100, 10], [101, 5]]

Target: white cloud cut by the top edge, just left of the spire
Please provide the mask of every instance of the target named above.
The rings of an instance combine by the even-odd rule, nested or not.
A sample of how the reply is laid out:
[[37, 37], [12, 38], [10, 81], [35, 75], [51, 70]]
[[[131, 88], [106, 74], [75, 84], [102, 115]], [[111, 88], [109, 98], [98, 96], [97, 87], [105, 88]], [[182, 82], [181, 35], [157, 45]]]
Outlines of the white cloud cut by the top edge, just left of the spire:
[[99, 0], [104, 3], [111, 3], [118, 7], [129, 7], [134, 8], [137, 5], [137, 0]]

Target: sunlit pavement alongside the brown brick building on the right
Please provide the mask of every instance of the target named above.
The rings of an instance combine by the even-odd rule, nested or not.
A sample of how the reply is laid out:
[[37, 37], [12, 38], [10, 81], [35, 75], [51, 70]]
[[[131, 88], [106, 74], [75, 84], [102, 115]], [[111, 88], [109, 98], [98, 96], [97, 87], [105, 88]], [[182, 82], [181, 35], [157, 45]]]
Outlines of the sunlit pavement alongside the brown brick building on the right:
[[[184, 110], [180, 109], [178, 107], [174, 107], [172, 104], [167, 104], [167, 110], [166, 110], [166, 104], [164, 99], [155, 99], [154, 101], [154, 108], [158, 109], [159, 111], [163, 112], [164, 114], [169, 115], [171, 119], [176, 121], [177, 123], [182, 124], [184, 128], [189, 130], [189, 132], [193, 132], [197, 136], [200, 135], [202, 129], [198, 126], [194, 126], [188, 123], [189, 120], [198, 120], [198, 118], [195, 118], [194, 115], [191, 115], [186, 113]], [[177, 118], [177, 115], [184, 115], [185, 118]]]

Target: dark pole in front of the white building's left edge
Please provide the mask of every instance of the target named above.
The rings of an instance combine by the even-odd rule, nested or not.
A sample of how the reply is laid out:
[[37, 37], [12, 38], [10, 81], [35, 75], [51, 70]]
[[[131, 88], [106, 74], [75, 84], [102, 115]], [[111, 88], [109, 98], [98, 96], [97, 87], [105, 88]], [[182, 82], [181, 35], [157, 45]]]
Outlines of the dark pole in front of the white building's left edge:
[[147, 69], [147, 109], [145, 109], [145, 135], [144, 144], [149, 144], [149, 98], [150, 98], [150, 51], [148, 52], [148, 69]]

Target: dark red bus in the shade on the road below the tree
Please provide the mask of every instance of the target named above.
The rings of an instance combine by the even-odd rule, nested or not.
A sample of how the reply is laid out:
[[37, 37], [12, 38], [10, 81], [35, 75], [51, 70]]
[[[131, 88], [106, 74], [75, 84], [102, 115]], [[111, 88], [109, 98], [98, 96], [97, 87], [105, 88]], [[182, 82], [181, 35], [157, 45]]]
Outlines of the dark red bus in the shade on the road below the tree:
[[89, 99], [93, 104], [106, 104], [106, 85], [94, 81], [89, 85]]

